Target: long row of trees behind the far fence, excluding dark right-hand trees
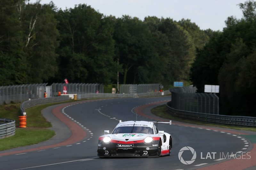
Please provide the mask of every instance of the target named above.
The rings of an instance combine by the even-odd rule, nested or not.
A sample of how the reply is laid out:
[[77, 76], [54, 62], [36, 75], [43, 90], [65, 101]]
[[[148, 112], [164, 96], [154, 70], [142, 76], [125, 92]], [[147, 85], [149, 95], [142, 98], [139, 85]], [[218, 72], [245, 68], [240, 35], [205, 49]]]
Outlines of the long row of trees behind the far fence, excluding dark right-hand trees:
[[189, 82], [196, 48], [212, 31], [189, 19], [105, 16], [90, 5], [61, 10], [0, 0], [0, 85]]

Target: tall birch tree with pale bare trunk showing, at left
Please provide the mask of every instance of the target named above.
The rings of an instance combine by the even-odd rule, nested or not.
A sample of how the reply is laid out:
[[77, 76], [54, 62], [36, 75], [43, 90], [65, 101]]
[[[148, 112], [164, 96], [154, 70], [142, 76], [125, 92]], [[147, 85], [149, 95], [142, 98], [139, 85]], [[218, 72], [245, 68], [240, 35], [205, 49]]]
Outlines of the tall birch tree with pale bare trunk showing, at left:
[[54, 4], [27, 4], [20, 13], [23, 47], [30, 83], [42, 83], [57, 72], [55, 49], [59, 46]]

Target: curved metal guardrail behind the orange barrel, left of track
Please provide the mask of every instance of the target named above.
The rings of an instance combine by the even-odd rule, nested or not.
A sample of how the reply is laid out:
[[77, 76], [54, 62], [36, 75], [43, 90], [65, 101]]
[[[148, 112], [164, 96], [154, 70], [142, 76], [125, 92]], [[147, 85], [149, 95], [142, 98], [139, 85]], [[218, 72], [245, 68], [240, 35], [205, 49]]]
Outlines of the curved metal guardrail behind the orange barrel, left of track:
[[23, 102], [20, 105], [20, 115], [24, 115], [25, 109], [29, 108], [29, 107], [33, 107], [33, 106], [37, 106], [37, 105], [42, 105], [42, 104], [47, 104], [47, 103], [55, 103], [55, 102], [67, 101], [67, 100], [70, 100], [68, 95], [28, 100], [28, 101]]

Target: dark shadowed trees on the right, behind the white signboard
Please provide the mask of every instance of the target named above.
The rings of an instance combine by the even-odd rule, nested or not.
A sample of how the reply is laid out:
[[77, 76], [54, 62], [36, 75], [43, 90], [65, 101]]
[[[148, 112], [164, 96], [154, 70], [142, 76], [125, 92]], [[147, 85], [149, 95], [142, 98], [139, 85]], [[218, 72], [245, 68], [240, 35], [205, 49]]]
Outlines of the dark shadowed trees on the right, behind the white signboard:
[[220, 113], [256, 116], [256, 2], [238, 4], [244, 17], [230, 16], [222, 32], [214, 32], [196, 51], [190, 78], [204, 85], [220, 85]]

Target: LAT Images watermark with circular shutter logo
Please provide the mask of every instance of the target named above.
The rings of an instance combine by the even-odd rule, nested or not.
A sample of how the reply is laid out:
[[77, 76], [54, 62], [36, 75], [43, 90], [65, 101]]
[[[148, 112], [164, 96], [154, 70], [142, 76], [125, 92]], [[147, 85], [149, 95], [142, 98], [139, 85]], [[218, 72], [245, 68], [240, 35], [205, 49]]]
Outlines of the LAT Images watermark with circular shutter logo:
[[[183, 159], [182, 154], [185, 153], [184, 151], [190, 151], [190, 152], [186, 152], [186, 156], [189, 155], [191, 157], [190, 160]], [[251, 159], [250, 153], [251, 152], [236, 152], [235, 154], [233, 152], [231, 152], [231, 153], [229, 153], [229, 152], [226, 152], [226, 153], [224, 153], [224, 152], [219, 152], [219, 153], [217, 153], [217, 152], [207, 152], [207, 153], [201, 152], [200, 159]], [[179, 156], [179, 160], [181, 163], [183, 163], [185, 165], [189, 165], [189, 164], [192, 164], [196, 160], [196, 151], [192, 147], [185, 146], [180, 149], [178, 156]]]

